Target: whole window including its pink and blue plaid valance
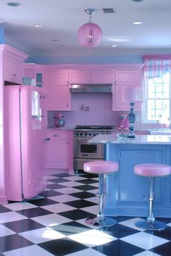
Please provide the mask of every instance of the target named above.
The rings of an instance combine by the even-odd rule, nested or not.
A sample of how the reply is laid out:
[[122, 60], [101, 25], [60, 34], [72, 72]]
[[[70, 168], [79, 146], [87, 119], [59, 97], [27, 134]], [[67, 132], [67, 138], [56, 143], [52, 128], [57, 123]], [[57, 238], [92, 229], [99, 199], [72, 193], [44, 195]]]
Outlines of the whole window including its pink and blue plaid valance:
[[171, 114], [171, 55], [144, 59], [143, 122], [169, 125]]

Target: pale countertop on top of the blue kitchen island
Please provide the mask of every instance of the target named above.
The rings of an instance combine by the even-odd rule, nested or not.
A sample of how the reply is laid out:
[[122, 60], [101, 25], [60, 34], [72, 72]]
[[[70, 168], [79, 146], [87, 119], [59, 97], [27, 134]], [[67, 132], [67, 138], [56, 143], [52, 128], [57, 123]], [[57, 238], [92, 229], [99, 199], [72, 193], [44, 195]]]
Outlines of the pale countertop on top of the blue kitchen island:
[[90, 143], [113, 144], [170, 144], [171, 136], [168, 135], [136, 135], [135, 138], [118, 138], [117, 134], [99, 134]]

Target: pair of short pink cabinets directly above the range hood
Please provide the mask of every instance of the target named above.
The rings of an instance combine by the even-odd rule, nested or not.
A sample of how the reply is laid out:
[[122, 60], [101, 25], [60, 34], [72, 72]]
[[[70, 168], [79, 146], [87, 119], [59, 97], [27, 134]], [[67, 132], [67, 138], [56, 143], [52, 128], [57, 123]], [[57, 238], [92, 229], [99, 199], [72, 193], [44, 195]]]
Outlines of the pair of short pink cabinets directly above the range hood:
[[113, 70], [71, 70], [70, 83], [112, 83]]

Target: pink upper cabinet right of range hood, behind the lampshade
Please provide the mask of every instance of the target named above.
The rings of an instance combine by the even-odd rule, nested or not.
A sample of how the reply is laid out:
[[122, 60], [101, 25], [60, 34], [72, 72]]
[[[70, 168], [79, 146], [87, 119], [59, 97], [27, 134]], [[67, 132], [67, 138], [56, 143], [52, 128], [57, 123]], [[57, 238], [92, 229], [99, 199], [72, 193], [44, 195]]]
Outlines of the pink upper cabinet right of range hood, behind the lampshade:
[[[126, 86], [142, 86], [141, 68], [114, 70], [112, 110], [129, 110], [129, 102], [122, 102], [122, 94]], [[141, 110], [141, 103], [137, 102], [134, 109]]]

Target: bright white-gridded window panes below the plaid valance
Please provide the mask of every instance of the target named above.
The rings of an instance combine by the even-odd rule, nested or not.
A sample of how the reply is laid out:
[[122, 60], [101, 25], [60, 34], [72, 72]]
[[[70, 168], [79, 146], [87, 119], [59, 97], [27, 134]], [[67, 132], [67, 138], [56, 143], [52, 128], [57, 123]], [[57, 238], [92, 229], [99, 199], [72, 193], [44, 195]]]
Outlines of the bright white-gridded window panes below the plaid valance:
[[145, 123], [168, 123], [170, 120], [170, 82], [169, 72], [145, 80]]

